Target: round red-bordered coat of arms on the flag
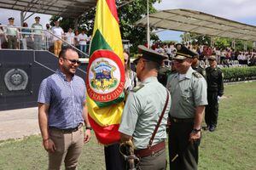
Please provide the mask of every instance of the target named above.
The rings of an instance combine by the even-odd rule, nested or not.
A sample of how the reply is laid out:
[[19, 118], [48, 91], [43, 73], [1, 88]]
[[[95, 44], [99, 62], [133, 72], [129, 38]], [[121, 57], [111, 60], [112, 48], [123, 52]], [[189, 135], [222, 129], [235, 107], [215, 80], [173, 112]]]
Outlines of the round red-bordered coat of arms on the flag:
[[125, 85], [125, 68], [117, 54], [97, 50], [90, 56], [86, 88], [91, 99], [108, 102], [117, 99]]

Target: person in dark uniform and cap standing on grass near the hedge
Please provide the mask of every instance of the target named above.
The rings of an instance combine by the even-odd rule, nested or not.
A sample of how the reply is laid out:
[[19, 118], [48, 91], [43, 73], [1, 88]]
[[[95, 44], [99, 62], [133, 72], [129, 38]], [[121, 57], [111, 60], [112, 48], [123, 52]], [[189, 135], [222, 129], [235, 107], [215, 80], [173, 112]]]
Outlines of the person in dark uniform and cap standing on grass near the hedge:
[[207, 67], [207, 100], [205, 121], [207, 129], [213, 132], [217, 127], [218, 119], [218, 101], [224, 94], [223, 73], [217, 67], [215, 56], [209, 56], [209, 67]]

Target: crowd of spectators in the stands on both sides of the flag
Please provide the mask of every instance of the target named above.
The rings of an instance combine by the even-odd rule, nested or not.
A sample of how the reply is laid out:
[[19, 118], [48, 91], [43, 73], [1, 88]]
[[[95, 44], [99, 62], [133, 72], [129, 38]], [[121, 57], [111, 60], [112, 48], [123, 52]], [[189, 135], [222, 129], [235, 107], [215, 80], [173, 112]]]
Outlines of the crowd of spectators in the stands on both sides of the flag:
[[[47, 31], [44, 31], [43, 34], [43, 26], [39, 23], [39, 16], [35, 17], [36, 22], [32, 25], [32, 28], [34, 28], [32, 30], [27, 26], [26, 22], [23, 23], [21, 29], [12, 27], [15, 26], [14, 20], [15, 19], [13, 17], [9, 18], [8, 26], [10, 27], [0, 26], [0, 49], [19, 48], [19, 46], [21, 49], [42, 49], [42, 44], [44, 43], [44, 49], [52, 51], [55, 55], [58, 55], [62, 46], [61, 39], [64, 39], [68, 44], [80, 49], [81, 52], [84, 52], [85, 54], [89, 53], [88, 44], [90, 44], [91, 37], [88, 37], [84, 30], [82, 30], [80, 33], [78, 30], [76, 30], [73, 33], [73, 29], [69, 28], [68, 31], [64, 33], [61, 26], [59, 26], [59, 21], [55, 21], [55, 26], [53, 26], [51, 29], [49, 24], [46, 24]], [[17, 43], [19, 39], [21, 42], [20, 45]], [[6, 44], [8, 47], [5, 47], [3, 42], [5, 42], [4, 44]], [[52, 44], [54, 47], [52, 47]], [[151, 48], [160, 54], [168, 55], [168, 58], [172, 60], [172, 57], [177, 51], [177, 49], [174, 48], [174, 45], [175, 42], [169, 42], [166, 44], [158, 41], [154, 43]], [[255, 65], [256, 62], [255, 49], [250, 51], [237, 51], [230, 47], [209, 47], [207, 45], [194, 45], [191, 42], [185, 42], [184, 45], [198, 54], [198, 59], [200, 60], [201, 65], [205, 67], [208, 66], [208, 57], [212, 54], [215, 54], [218, 65], [223, 67]], [[82, 53], [79, 54], [82, 56]]]

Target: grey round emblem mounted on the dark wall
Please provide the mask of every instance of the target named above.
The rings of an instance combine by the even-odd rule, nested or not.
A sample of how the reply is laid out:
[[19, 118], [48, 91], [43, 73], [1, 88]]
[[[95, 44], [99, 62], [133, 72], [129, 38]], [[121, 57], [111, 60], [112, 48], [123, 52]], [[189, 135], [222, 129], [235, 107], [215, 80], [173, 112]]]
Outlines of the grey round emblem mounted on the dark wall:
[[28, 82], [26, 71], [21, 69], [9, 70], [4, 76], [4, 82], [9, 91], [24, 90]]

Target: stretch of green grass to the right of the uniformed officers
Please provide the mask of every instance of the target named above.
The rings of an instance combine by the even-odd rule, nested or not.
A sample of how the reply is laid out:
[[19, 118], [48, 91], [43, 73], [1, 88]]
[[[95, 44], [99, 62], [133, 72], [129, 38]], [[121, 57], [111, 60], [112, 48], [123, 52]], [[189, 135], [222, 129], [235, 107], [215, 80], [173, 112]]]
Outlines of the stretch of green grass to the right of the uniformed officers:
[[203, 133], [200, 169], [256, 169], [256, 82], [225, 86], [216, 132]]

